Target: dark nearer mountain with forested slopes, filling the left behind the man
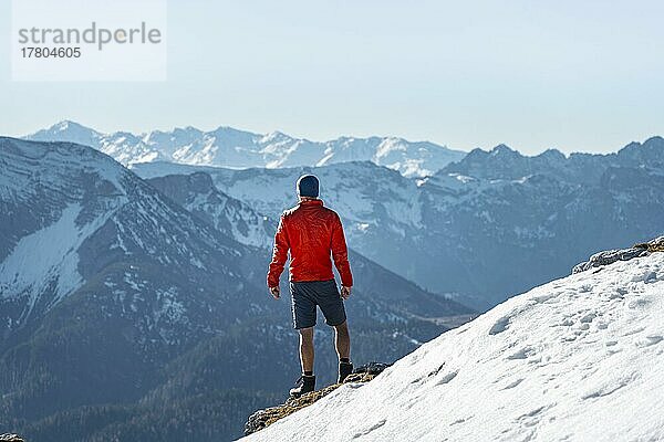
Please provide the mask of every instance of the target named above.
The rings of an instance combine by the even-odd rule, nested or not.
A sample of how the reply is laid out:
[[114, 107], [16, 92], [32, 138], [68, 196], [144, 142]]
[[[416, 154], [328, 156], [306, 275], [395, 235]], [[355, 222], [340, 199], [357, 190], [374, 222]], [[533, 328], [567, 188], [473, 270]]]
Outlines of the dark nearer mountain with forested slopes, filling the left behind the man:
[[[264, 288], [270, 218], [209, 175], [146, 181], [73, 143], [0, 137], [0, 165], [3, 425], [32, 440], [227, 440], [288, 389], [297, 339], [288, 302]], [[473, 315], [355, 251], [351, 263], [356, 361], [394, 360]], [[317, 336], [329, 382], [332, 336]]]

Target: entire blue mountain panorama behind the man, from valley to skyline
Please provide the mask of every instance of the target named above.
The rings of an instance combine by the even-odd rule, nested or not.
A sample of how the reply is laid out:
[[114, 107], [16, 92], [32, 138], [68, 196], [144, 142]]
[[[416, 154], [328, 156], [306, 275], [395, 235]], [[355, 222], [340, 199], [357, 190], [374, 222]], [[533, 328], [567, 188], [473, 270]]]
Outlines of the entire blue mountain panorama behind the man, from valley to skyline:
[[[322, 161], [321, 146], [216, 133], [189, 143], [65, 122], [31, 136], [48, 143], [0, 138], [0, 412], [28, 436], [179, 441], [206, 422], [199, 438], [228, 439], [274, 403], [297, 341], [264, 273], [303, 172], [352, 249], [356, 361], [394, 360], [468, 320], [463, 304], [490, 308], [664, 225], [661, 137], [610, 155], [500, 145], [454, 162], [408, 145], [386, 148], [398, 160], [385, 167], [387, 140], [333, 143]], [[334, 364], [323, 346], [323, 382]]]

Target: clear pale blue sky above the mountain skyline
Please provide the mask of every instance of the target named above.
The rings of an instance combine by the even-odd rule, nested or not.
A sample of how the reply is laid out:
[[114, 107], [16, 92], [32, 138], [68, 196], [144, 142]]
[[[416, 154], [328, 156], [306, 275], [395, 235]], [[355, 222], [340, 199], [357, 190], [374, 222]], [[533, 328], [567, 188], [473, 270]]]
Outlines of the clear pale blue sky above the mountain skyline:
[[664, 135], [662, 1], [168, 3], [168, 81], [17, 83], [0, 1], [0, 134], [68, 118], [314, 140], [612, 151]]

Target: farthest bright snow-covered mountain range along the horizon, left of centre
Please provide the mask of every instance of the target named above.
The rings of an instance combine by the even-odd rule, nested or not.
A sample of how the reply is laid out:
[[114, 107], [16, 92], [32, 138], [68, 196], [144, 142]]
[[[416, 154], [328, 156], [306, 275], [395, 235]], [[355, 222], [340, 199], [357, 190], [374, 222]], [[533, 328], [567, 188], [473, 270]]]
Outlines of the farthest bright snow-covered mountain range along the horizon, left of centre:
[[466, 154], [433, 143], [396, 137], [341, 137], [318, 143], [274, 131], [253, 134], [219, 127], [195, 127], [148, 134], [101, 134], [73, 122], [61, 122], [27, 137], [39, 141], [71, 141], [92, 146], [125, 166], [157, 160], [229, 168], [324, 166], [366, 160], [406, 177], [433, 175]]

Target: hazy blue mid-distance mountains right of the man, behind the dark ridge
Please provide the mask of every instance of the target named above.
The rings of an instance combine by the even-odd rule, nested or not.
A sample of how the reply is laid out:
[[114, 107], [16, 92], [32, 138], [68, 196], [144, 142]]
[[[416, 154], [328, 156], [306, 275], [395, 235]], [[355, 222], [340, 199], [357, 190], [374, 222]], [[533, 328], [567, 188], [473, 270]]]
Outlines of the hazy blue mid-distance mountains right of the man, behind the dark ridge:
[[[148, 178], [195, 170], [135, 167]], [[298, 177], [315, 173], [321, 198], [341, 214], [355, 250], [477, 308], [566, 274], [593, 250], [652, 236], [664, 224], [661, 137], [611, 155], [476, 149], [419, 180], [369, 161], [205, 170], [219, 190], [273, 218], [294, 204]]]

